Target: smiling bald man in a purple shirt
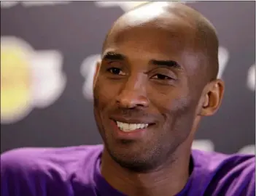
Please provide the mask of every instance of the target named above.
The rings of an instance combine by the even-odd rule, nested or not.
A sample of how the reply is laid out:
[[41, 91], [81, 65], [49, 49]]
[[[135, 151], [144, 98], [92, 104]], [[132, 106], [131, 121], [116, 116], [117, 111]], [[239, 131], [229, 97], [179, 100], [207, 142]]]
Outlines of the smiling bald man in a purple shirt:
[[23, 148], [1, 155], [1, 195], [255, 195], [255, 158], [191, 150], [216, 113], [218, 40], [181, 3], [120, 17], [104, 41], [94, 113], [104, 146]]

